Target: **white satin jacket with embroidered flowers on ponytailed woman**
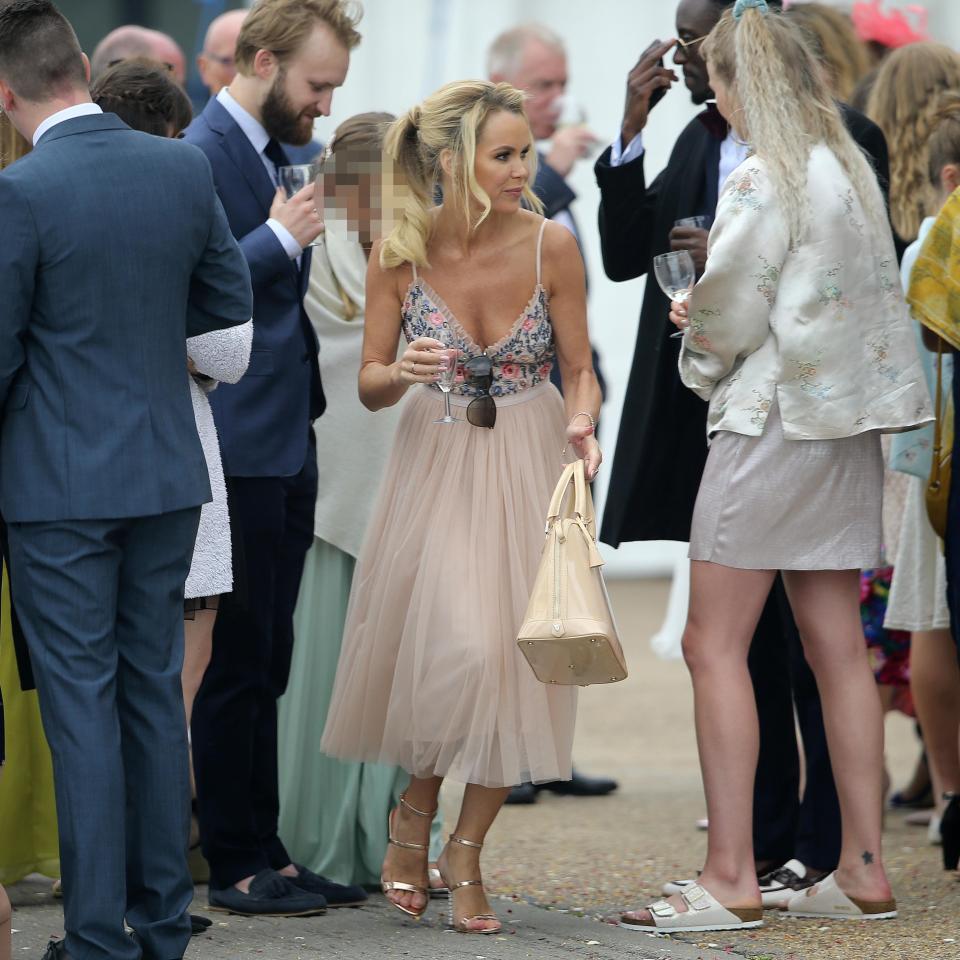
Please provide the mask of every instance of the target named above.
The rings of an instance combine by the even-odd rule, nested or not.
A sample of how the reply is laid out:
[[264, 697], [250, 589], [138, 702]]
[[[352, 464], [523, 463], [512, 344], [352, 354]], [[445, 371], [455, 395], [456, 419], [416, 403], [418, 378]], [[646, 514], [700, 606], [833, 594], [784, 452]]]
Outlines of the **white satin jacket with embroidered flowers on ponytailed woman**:
[[871, 230], [834, 153], [810, 153], [813, 215], [790, 249], [764, 162], [727, 179], [689, 300], [686, 386], [707, 434], [759, 436], [774, 398], [791, 440], [910, 429], [932, 419], [889, 230]]

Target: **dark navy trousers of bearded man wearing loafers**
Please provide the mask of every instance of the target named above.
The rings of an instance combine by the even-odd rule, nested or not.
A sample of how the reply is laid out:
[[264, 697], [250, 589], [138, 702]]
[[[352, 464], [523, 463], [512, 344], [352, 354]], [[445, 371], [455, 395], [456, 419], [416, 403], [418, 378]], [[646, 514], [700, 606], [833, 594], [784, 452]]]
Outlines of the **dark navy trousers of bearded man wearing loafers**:
[[219, 890], [290, 863], [277, 834], [277, 700], [287, 686], [293, 610], [313, 543], [313, 431], [298, 474], [231, 477], [227, 494], [247, 589], [220, 602], [192, 721], [200, 839], [210, 886]]

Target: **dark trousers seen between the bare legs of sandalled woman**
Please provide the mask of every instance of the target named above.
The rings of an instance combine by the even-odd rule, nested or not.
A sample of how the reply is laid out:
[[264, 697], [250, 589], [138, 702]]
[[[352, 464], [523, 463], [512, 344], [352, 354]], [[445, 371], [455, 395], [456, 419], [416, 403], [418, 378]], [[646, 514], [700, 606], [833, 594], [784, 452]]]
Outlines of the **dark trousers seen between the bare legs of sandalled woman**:
[[[820, 695], [779, 575], [757, 624], [748, 665], [760, 720], [754, 856], [777, 866], [796, 857], [806, 866], [832, 870], [840, 858], [840, 804]], [[802, 798], [797, 726], [806, 774]]]

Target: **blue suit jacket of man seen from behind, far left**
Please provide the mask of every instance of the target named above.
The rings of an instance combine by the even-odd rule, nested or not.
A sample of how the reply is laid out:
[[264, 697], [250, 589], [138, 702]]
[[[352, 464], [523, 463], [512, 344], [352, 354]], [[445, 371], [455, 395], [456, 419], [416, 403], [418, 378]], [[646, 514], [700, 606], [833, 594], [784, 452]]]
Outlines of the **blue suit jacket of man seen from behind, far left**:
[[0, 210], [4, 518], [209, 500], [186, 338], [245, 323], [252, 301], [203, 154], [75, 117], [0, 174]]

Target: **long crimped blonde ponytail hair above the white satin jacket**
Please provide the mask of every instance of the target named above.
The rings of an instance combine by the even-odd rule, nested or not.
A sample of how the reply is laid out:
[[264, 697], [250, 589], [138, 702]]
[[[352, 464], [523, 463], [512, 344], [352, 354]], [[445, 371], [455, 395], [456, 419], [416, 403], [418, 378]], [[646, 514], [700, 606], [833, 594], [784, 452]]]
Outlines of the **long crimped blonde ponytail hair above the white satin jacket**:
[[823, 71], [801, 28], [783, 14], [727, 11], [704, 41], [703, 55], [739, 105], [737, 127], [766, 165], [791, 247], [811, 217], [807, 161], [825, 143], [877, 229], [888, 229], [883, 197], [869, 161], [847, 131]]

